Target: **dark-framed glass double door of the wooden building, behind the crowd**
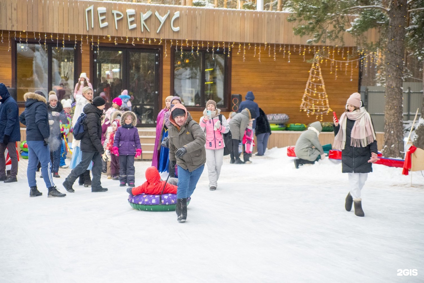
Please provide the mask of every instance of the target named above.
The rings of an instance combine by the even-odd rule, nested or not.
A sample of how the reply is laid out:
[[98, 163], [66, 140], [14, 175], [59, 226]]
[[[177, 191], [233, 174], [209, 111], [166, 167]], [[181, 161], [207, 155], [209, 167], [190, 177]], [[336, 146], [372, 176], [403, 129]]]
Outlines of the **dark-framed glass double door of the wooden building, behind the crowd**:
[[131, 96], [138, 127], [156, 126], [159, 113], [159, 50], [102, 48], [94, 52], [95, 96], [104, 92], [109, 103], [123, 90]]

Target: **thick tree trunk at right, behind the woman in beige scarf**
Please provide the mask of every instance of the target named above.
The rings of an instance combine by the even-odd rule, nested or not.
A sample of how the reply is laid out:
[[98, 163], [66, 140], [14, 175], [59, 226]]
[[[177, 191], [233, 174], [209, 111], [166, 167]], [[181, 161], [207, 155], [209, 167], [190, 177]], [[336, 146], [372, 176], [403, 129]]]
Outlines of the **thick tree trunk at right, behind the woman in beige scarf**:
[[390, 4], [386, 51], [386, 105], [384, 110], [384, 157], [403, 158], [402, 71], [406, 34], [407, 0]]

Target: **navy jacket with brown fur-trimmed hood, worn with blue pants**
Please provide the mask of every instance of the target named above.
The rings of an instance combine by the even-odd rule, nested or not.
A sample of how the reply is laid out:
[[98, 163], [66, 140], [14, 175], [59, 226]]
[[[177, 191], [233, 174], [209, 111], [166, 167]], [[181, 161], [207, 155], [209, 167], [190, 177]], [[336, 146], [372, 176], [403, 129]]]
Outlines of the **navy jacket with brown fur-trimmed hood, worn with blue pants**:
[[26, 126], [26, 140], [44, 140], [50, 136], [46, 98], [34, 92], [24, 95], [25, 110], [19, 120]]

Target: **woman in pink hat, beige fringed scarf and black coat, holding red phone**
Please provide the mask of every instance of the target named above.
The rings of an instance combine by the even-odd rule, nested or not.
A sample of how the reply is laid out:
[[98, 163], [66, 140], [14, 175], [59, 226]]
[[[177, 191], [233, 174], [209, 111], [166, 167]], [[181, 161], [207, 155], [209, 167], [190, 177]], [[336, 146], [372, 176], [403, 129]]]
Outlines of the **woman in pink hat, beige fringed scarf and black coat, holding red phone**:
[[361, 190], [372, 163], [377, 162], [377, 140], [371, 116], [365, 110], [358, 92], [353, 93], [346, 104], [340, 121], [334, 120], [334, 149], [342, 151], [342, 172], [348, 173], [350, 192], [346, 196], [345, 209], [350, 211], [352, 203], [356, 216], [364, 216]]

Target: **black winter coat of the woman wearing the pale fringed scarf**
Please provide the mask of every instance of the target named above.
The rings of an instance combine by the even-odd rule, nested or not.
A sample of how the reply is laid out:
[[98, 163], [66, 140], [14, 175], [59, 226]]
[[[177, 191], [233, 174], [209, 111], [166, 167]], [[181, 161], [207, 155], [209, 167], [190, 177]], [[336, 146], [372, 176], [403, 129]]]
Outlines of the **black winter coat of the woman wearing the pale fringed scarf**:
[[[355, 121], [347, 118], [346, 121], [346, 145], [342, 150], [343, 173], [369, 173], [372, 172], [372, 163], [368, 163], [371, 152], [377, 153], [377, 140], [365, 147], [353, 147], [350, 145], [350, 135]], [[334, 126], [334, 136], [337, 135], [340, 124]]]

